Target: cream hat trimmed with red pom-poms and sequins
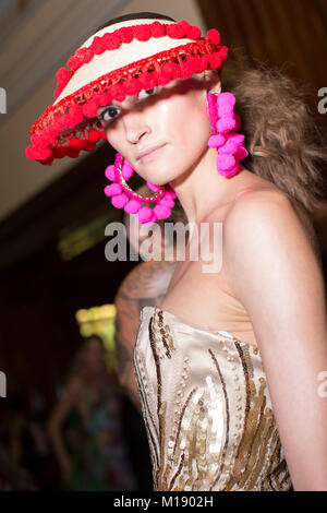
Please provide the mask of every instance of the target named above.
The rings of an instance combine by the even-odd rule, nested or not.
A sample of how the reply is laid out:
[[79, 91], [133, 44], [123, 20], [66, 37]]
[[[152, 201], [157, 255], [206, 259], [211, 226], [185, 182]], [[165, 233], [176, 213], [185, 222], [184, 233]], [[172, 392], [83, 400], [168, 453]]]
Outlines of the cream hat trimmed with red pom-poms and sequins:
[[56, 102], [35, 121], [26, 156], [45, 166], [77, 157], [106, 140], [98, 108], [193, 73], [220, 70], [228, 48], [220, 34], [185, 20], [128, 20], [99, 29], [56, 73]]

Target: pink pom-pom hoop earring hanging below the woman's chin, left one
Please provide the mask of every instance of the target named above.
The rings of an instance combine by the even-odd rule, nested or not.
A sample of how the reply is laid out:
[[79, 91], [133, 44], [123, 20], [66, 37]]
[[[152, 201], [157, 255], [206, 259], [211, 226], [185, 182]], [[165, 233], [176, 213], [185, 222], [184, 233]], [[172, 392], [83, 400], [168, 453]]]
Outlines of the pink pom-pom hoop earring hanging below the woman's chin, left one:
[[[116, 208], [124, 208], [129, 214], [137, 214], [138, 222], [143, 225], [149, 225], [157, 219], [166, 219], [171, 215], [171, 208], [174, 206], [174, 198], [177, 193], [170, 186], [155, 186], [149, 181], [147, 187], [155, 192], [152, 196], [143, 196], [133, 191], [126, 183], [134, 172], [131, 164], [121, 155], [116, 154], [114, 164], [108, 166], [105, 175], [108, 180], [112, 181], [105, 188], [105, 194], [111, 196], [111, 204]], [[146, 203], [146, 206], [142, 206]], [[149, 207], [150, 203], [156, 203], [154, 208]]]

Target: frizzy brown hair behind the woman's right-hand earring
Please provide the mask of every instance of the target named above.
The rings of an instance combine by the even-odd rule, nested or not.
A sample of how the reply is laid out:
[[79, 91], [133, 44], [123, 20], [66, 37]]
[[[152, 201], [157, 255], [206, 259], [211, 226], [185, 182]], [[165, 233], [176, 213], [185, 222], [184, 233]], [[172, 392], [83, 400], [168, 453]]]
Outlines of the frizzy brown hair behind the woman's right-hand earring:
[[250, 63], [237, 49], [222, 69], [221, 87], [237, 99], [249, 151], [244, 167], [313, 214], [326, 194], [327, 142], [311, 112], [306, 85], [279, 68], [258, 60]]

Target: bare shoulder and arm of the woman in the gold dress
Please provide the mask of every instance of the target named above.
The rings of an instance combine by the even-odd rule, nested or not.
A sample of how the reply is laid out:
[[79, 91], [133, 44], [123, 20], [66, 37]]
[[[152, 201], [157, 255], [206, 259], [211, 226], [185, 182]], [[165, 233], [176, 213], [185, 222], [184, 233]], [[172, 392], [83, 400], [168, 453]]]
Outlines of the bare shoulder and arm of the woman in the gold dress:
[[253, 323], [294, 490], [327, 490], [326, 291], [313, 248], [287, 196], [263, 191], [235, 203], [222, 244]]

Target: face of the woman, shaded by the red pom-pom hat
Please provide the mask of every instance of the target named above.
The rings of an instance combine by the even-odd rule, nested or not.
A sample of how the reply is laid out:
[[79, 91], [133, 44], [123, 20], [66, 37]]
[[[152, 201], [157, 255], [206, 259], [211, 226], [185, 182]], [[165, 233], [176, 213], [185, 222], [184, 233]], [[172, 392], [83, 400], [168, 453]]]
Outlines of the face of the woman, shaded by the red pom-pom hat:
[[[99, 107], [111, 146], [145, 180], [162, 186], [192, 170], [207, 150], [210, 122], [201, 75], [142, 90], [124, 102]], [[162, 145], [143, 158], [141, 152]]]

